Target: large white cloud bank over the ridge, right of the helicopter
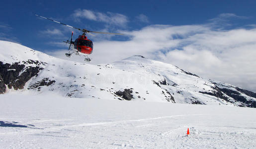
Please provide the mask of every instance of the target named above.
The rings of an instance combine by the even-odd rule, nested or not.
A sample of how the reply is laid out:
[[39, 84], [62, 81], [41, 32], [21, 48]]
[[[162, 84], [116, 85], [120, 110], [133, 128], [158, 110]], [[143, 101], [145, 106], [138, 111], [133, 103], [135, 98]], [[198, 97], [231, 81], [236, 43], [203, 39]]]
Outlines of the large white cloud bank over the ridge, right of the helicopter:
[[[93, 43], [92, 64], [143, 55], [256, 92], [256, 27], [216, 30], [212, 24], [150, 25], [122, 32], [130, 39]], [[52, 55], [66, 59], [64, 53]], [[83, 57], [75, 61], [83, 62]]]

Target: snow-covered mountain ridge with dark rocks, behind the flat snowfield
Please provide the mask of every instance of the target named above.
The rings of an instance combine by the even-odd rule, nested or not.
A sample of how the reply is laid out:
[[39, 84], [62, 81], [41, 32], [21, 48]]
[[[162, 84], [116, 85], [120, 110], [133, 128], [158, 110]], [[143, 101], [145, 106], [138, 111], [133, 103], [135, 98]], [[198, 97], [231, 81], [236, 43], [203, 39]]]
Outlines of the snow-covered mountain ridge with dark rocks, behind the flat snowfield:
[[0, 41], [0, 93], [256, 107], [256, 93], [133, 56], [90, 65]]

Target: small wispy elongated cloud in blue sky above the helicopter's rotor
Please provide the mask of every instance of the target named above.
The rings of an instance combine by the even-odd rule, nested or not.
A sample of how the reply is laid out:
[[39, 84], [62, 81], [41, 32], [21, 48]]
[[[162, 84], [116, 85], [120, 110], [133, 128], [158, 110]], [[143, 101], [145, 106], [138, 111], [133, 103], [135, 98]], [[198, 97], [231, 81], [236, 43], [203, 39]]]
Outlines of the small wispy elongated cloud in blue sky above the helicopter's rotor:
[[120, 13], [112, 12], [95, 12], [88, 9], [78, 9], [72, 14], [77, 19], [86, 18], [93, 21], [104, 22], [106, 24], [116, 25], [116, 26], [126, 26], [128, 23], [128, 17]]

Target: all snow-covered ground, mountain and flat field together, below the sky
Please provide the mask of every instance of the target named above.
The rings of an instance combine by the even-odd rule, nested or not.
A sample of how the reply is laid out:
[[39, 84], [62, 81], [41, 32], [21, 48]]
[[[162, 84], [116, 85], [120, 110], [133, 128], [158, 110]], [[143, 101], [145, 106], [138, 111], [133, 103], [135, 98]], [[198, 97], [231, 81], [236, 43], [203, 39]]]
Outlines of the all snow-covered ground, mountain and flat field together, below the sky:
[[3, 149], [256, 148], [255, 107], [254, 92], [143, 56], [95, 66], [0, 41]]

